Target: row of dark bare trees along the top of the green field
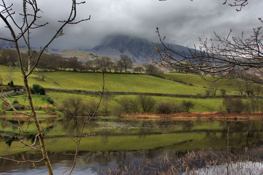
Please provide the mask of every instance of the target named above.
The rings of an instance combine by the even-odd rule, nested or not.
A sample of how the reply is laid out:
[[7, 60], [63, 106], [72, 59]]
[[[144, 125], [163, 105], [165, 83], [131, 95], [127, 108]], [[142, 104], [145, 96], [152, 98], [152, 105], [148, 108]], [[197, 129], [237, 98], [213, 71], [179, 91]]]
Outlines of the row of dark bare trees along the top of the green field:
[[[32, 56], [37, 56], [38, 52], [33, 51]], [[23, 64], [28, 64], [28, 52], [22, 53]], [[34, 65], [36, 62], [30, 63]], [[14, 49], [0, 47], [0, 64], [18, 65], [17, 52]], [[124, 72], [129, 70], [133, 73], [146, 73], [153, 76], [161, 76], [163, 71], [153, 64], [145, 64], [144, 66], [134, 66], [132, 59], [127, 55], [120, 55], [120, 59], [113, 60], [109, 56], [89, 59], [86, 62], [80, 61], [78, 57], [65, 58], [58, 54], [42, 54], [38, 62], [38, 68], [44, 70], [74, 70], [74, 71], [108, 71], [108, 72]], [[27, 67], [26, 67], [27, 68]]]

